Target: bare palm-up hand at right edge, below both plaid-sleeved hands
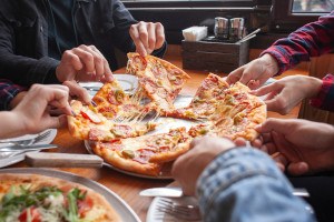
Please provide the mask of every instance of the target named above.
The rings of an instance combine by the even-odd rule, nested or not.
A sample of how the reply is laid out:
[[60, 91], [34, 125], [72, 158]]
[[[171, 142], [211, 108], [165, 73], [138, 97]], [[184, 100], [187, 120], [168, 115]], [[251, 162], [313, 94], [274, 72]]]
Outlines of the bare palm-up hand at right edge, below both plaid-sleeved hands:
[[268, 119], [256, 129], [263, 133], [261, 150], [279, 153], [274, 160], [294, 175], [334, 169], [334, 128], [307, 120]]

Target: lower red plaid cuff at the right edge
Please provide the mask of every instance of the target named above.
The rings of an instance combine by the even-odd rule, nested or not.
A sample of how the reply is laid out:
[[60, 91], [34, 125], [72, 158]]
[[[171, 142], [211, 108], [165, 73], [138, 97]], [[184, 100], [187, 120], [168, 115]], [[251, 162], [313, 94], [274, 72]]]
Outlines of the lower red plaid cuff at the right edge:
[[323, 79], [322, 88], [316, 98], [310, 101], [311, 105], [322, 110], [334, 111], [334, 75], [327, 74]]

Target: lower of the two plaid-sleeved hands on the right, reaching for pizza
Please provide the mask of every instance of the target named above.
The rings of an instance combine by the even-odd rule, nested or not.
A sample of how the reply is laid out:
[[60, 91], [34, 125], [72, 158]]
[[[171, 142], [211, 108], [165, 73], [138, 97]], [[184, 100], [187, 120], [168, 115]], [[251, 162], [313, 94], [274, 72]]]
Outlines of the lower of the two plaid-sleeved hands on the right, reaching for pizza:
[[269, 111], [287, 114], [305, 98], [315, 97], [321, 89], [322, 80], [305, 75], [291, 75], [268, 85], [254, 90], [255, 95], [265, 95]]

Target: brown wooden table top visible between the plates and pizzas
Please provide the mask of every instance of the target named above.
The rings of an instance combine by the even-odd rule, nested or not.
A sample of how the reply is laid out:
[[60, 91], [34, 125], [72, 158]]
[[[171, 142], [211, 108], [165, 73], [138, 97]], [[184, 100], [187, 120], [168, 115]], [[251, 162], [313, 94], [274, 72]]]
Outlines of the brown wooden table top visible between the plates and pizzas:
[[[180, 57], [167, 57], [171, 63], [181, 68]], [[196, 89], [198, 88], [202, 80], [208, 74], [205, 71], [196, 71], [196, 70], [185, 70], [190, 77], [191, 80], [187, 82], [186, 87], [181, 91], [181, 94], [194, 94]], [[125, 73], [125, 69], [120, 69], [115, 73]], [[293, 71], [286, 72], [284, 75], [289, 73], [294, 73]], [[307, 74], [305, 71], [299, 70], [298, 73]], [[291, 114], [288, 115], [279, 115], [277, 113], [268, 113], [268, 117], [275, 118], [296, 118], [298, 114], [299, 107], [296, 107]], [[58, 144], [60, 149], [58, 152], [63, 153], [88, 153], [84, 141], [73, 139], [67, 129], [59, 129], [58, 134], [52, 142]], [[14, 165], [10, 165], [8, 168], [26, 168], [27, 164], [23, 162], [17, 163]], [[138, 193], [143, 189], [154, 188], [154, 186], [166, 186], [173, 180], [151, 180], [151, 179], [141, 179], [131, 175], [127, 175], [124, 173], [116, 172], [108, 168], [102, 169], [58, 169], [71, 173], [76, 173], [78, 175], [91, 179], [97, 181], [105, 186], [109, 188], [111, 191], [116, 192], [120, 198], [122, 198], [132, 210], [139, 215], [141, 221], [146, 221], [147, 210], [151, 202], [150, 198], [140, 198]]]

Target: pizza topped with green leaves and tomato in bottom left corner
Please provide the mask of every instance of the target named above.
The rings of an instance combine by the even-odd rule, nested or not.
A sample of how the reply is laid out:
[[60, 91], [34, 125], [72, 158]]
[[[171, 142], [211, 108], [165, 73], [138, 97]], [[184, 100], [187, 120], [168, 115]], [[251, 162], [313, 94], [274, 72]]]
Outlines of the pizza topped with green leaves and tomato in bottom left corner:
[[0, 221], [112, 222], [107, 200], [78, 183], [39, 174], [0, 174]]

